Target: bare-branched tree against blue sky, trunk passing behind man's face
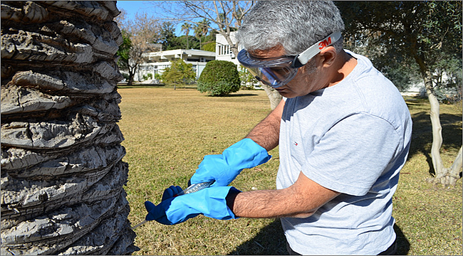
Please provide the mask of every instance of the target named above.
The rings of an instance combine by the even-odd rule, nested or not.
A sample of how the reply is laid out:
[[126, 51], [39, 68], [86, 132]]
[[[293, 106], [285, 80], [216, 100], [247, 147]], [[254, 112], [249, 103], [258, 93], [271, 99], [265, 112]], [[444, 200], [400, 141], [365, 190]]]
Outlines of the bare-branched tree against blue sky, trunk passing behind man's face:
[[[231, 40], [231, 32], [241, 26], [244, 15], [253, 6], [254, 1], [160, 1], [157, 8], [167, 15], [165, 19], [177, 22], [189, 22], [197, 26], [202, 21], [209, 21], [208, 27], [220, 33], [227, 40], [231, 52], [238, 55], [238, 43]], [[171, 17], [176, 18], [171, 18]], [[262, 85], [270, 100], [273, 110], [281, 101], [281, 95], [270, 86]]]

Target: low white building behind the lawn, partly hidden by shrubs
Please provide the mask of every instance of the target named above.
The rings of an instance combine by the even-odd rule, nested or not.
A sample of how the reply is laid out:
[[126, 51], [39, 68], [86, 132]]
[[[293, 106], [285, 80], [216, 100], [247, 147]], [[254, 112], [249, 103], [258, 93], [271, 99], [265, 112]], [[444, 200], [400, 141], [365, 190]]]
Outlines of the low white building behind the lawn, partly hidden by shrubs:
[[193, 70], [196, 72], [196, 77], [199, 78], [206, 63], [210, 60], [215, 60], [216, 53], [207, 50], [160, 50], [151, 53], [143, 53], [142, 57], [147, 59], [147, 63], [142, 63], [138, 66], [135, 80], [144, 80], [143, 76], [150, 73], [152, 78], [155, 74], [162, 74], [166, 67], [172, 65], [173, 60], [183, 59], [185, 63], [192, 64]]

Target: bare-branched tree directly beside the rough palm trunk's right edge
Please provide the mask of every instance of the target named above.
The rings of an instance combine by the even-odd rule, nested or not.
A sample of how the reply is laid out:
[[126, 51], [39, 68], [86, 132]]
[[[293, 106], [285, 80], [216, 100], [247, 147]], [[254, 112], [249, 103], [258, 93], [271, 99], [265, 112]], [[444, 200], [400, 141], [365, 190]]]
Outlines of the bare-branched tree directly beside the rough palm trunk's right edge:
[[[160, 50], [155, 43], [167, 38], [167, 33], [163, 33], [165, 24], [146, 13], [137, 13], [133, 20], [128, 20], [125, 16], [120, 18], [118, 26], [123, 31], [124, 38], [124, 43], [118, 51], [118, 65], [128, 73], [128, 85], [132, 85], [138, 66], [145, 61], [142, 54]], [[167, 39], [165, 41], [167, 42]]]

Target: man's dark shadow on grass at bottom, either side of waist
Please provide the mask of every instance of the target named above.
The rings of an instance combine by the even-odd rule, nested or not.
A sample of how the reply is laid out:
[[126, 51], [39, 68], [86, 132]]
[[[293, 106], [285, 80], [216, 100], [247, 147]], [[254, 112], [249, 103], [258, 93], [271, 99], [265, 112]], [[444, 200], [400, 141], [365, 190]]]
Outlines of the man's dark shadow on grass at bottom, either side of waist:
[[[397, 235], [397, 255], [407, 255], [410, 251], [410, 242], [397, 224], [394, 225], [394, 230]], [[288, 255], [280, 220], [274, 220], [254, 238], [236, 247], [229, 255]]]

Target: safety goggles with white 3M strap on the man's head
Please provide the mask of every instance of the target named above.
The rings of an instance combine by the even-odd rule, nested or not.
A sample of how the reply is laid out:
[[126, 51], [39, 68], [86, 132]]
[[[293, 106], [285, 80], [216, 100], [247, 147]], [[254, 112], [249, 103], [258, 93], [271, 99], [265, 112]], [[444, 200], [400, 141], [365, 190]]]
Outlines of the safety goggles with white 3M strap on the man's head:
[[340, 32], [334, 32], [296, 56], [281, 56], [277, 58], [254, 58], [247, 50], [238, 53], [238, 60], [254, 77], [271, 87], [278, 88], [291, 81], [298, 69], [308, 63], [324, 48], [339, 40]]

